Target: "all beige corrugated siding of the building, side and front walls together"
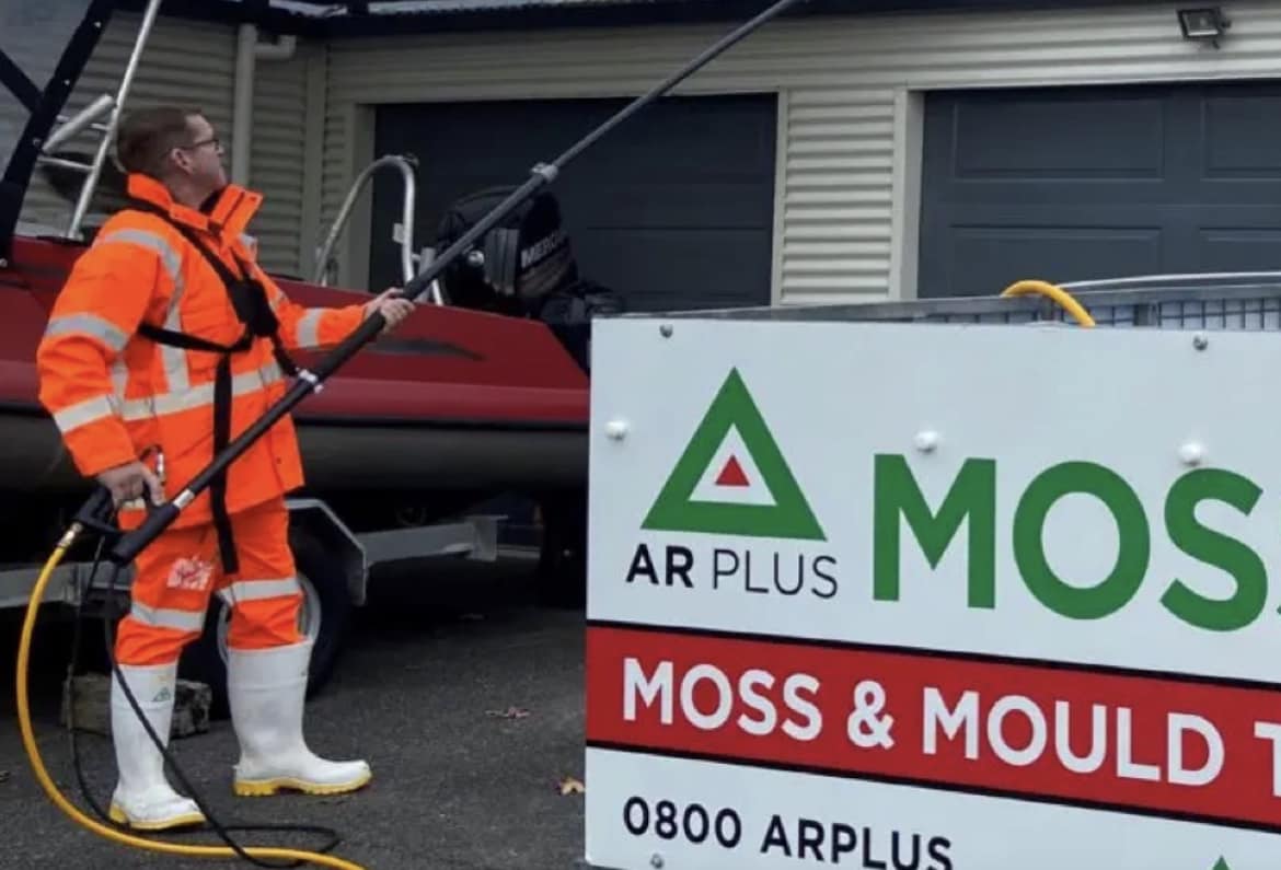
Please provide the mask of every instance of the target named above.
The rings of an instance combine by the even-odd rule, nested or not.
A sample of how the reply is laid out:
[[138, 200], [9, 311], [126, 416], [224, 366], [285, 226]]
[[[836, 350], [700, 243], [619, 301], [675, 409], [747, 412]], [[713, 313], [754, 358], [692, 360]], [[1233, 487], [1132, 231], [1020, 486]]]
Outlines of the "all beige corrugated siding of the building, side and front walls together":
[[[780, 96], [778, 302], [910, 297], [929, 90], [1281, 73], [1281, 4], [1255, 0], [1230, 13], [1234, 27], [1218, 50], [1180, 37], [1173, 4], [774, 22], [679, 92]], [[136, 14], [113, 17], [72, 110], [114, 90], [137, 23]], [[254, 226], [263, 259], [310, 274], [352, 178], [375, 156], [379, 103], [637, 95], [730, 27], [300, 42], [291, 60], [259, 62], [250, 183], [266, 195]], [[234, 68], [233, 27], [160, 18], [132, 104], [199, 103], [229, 144]], [[61, 227], [68, 217], [37, 178], [23, 219]], [[366, 190], [337, 251], [343, 283], [365, 284], [368, 247]]]

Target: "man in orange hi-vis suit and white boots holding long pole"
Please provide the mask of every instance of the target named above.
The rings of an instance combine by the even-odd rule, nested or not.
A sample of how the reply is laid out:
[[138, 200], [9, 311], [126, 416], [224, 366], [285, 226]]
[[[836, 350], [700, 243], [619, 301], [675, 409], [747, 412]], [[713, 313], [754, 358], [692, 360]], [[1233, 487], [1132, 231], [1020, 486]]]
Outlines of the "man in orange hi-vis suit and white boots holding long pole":
[[[333, 309], [286, 299], [243, 234], [261, 196], [227, 183], [222, 147], [199, 111], [133, 113], [119, 128], [117, 160], [131, 206], [76, 263], [37, 364], [41, 402], [76, 466], [110, 489], [120, 525], [136, 528], [141, 498], [173, 497], [286, 392], [288, 351], [336, 345], [373, 311], [392, 328], [414, 304], [395, 290]], [[164, 463], [163, 479], [152, 456]], [[128, 687], [168, 739], [179, 653], [202, 630], [209, 596], [229, 593], [237, 794], [333, 794], [371, 775], [364, 761], [316, 757], [302, 737], [310, 646], [297, 627], [302, 593], [284, 507], [284, 493], [301, 483], [286, 416], [138, 555], [117, 634]], [[204, 821], [165, 778], [118, 678], [111, 733], [115, 821], [147, 830]]]

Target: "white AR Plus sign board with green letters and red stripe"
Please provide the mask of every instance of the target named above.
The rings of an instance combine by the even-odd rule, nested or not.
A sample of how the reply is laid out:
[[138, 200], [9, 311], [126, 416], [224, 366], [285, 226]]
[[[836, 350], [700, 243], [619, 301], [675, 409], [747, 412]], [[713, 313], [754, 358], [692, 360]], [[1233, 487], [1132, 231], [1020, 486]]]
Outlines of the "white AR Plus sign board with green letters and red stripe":
[[1281, 867], [1281, 336], [669, 325], [594, 333], [592, 866]]

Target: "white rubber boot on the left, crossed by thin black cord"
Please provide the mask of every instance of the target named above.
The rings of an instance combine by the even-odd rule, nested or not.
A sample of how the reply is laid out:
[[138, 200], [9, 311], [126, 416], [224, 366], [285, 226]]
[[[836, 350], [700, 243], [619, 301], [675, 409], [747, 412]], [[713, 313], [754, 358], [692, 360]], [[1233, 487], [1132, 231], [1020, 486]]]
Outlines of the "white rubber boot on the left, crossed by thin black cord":
[[[120, 671], [147, 721], [168, 747], [178, 664], [120, 665]], [[115, 674], [111, 675], [111, 742], [119, 771], [108, 811], [113, 821], [138, 830], [165, 830], [205, 821], [195, 801], [173, 791], [164, 773], [164, 756], [129, 706]]]

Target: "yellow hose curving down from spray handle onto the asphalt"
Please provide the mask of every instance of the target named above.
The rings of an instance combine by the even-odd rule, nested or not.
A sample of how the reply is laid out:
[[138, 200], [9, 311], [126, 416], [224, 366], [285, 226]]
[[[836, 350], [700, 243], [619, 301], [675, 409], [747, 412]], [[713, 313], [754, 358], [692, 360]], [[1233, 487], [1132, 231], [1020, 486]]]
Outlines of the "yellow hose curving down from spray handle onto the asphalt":
[[[70, 548], [81, 530], [82, 527], [78, 523], [72, 524], [72, 527], [58, 542], [58, 546], [54, 548], [49, 561], [45, 562], [45, 568], [41, 570], [40, 577], [36, 580], [36, 588], [32, 589], [31, 593], [31, 603], [27, 605], [27, 618], [22, 624], [22, 639], [18, 643], [18, 725], [22, 729], [22, 744], [26, 747], [27, 757], [31, 760], [31, 766], [36, 771], [36, 779], [40, 780], [40, 784], [45, 789], [49, 798], [58, 806], [59, 810], [70, 816], [72, 821], [79, 823], [95, 834], [100, 834], [106, 839], [123, 843], [124, 846], [136, 846], [137, 848], [150, 849], [152, 852], [164, 852], [167, 855], [183, 855], [201, 858], [240, 857], [236, 855], [234, 849], [227, 846], [179, 846], [177, 843], [167, 843], [147, 839], [145, 837], [132, 837], [115, 830], [114, 828], [109, 828], [108, 825], [85, 815], [70, 801], [68, 801], [61, 792], [58, 791], [58, 787], [54, 785], [53, 779], [49, 776], [49, 771], [45, 769], [45, 762], [40, 757], [40, 750], [36, 747], [35, 733], [31, 728], [31, 710], [27, 706], [27, 664], [31, 657], [31, 636], [36, 628], [36, 614], [40, 610], [40, 602], [45, 597], [45, 587], [49, 586], [49, 579], [53, 577], [54, 569], [58, 568], [58, 564], [63, 560], [63, 556], [67, 555], [67, 551]], [[337, 870], [365, 870], [359, 864], [352, 864], [351, 861], [345, 861], [322, 852], [305, 852], [264, 846], [247, 846], [245, 847], [245, 852], [256, 858], [307, 861], [327, 867], [336, 867]]]

